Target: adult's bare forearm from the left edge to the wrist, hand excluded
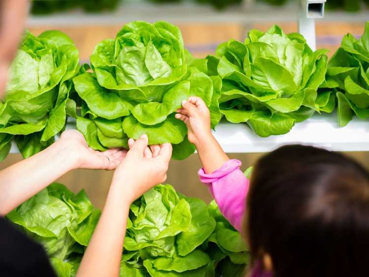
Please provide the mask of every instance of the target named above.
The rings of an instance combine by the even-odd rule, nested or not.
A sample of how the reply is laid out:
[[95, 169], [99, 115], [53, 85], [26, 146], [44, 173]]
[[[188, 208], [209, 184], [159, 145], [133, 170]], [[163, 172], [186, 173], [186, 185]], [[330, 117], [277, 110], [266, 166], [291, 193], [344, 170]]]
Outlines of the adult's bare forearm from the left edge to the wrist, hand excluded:
[[0, 172], [0, 215], [6, 215], [34, 194], [73, 169], [76, 160], [62, 143], [22, 160]]

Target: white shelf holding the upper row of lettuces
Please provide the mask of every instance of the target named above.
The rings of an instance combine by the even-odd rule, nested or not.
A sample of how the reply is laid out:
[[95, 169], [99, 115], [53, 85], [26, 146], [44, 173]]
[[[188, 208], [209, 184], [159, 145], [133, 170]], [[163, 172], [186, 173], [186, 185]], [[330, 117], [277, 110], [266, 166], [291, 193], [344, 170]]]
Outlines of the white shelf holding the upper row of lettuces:
[[[68, 123], [67, 129], [75, 128]], [[220, 123], [215, 138], [227, 153], [265, 153], [287, 144], [304, 144], [340, 152], [369, 151], [369, 122], [354, 118], [347, 126], [339, 127], [336, 115], [315, 115], [297, 123], [280, 136], [261, 138], [246, 124]], [[15, 144], [10, 153], [19, 153]]]

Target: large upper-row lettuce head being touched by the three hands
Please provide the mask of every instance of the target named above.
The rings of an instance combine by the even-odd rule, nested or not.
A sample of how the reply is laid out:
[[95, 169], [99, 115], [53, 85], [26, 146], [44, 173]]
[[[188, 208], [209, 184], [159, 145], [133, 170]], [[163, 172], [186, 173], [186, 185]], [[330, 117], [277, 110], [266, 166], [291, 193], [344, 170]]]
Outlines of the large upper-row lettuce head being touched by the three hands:
[[73, 82], [83, 99], [77, 128], [93, 149], [126, 148], [128, 138], [146, 133], [149, 144], [172, 143], [174, 158], [194, 152], [175, 111], [189, 96], [216, 106], [219, 93], [214, 87], [219, 89], [220, 84], [187, 66], [177, 27], [166, 22], [128, 23], [115, 39], [96, 45], [91, 64], [93, 73], [79, 75]]

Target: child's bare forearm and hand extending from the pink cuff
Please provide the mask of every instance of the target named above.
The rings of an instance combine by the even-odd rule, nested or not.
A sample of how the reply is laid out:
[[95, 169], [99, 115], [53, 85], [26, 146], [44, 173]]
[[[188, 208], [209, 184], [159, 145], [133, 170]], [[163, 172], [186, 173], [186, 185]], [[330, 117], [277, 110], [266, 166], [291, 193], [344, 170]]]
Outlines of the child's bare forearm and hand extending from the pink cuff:
[[189, 97], [182, 103], [176, 118], [186, 123], [188, 140], [196, 146], [200, 161], [206, 173], [219, 169], [229, 157], [224, 153], [210, 128], [210, 112], [199, 97]]

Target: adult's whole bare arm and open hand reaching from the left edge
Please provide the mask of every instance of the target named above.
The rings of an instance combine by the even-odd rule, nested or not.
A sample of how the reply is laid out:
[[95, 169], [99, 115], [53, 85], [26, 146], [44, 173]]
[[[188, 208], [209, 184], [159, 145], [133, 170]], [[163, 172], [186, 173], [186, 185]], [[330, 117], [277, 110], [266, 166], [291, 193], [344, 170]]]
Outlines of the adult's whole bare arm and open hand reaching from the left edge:
[[72, 169], [115, 169], [124, 155], [117, 149], [93, 151], [80, 132], [65, 131], [47, 149], [0, 172], [0, 215], [6, 215]]

